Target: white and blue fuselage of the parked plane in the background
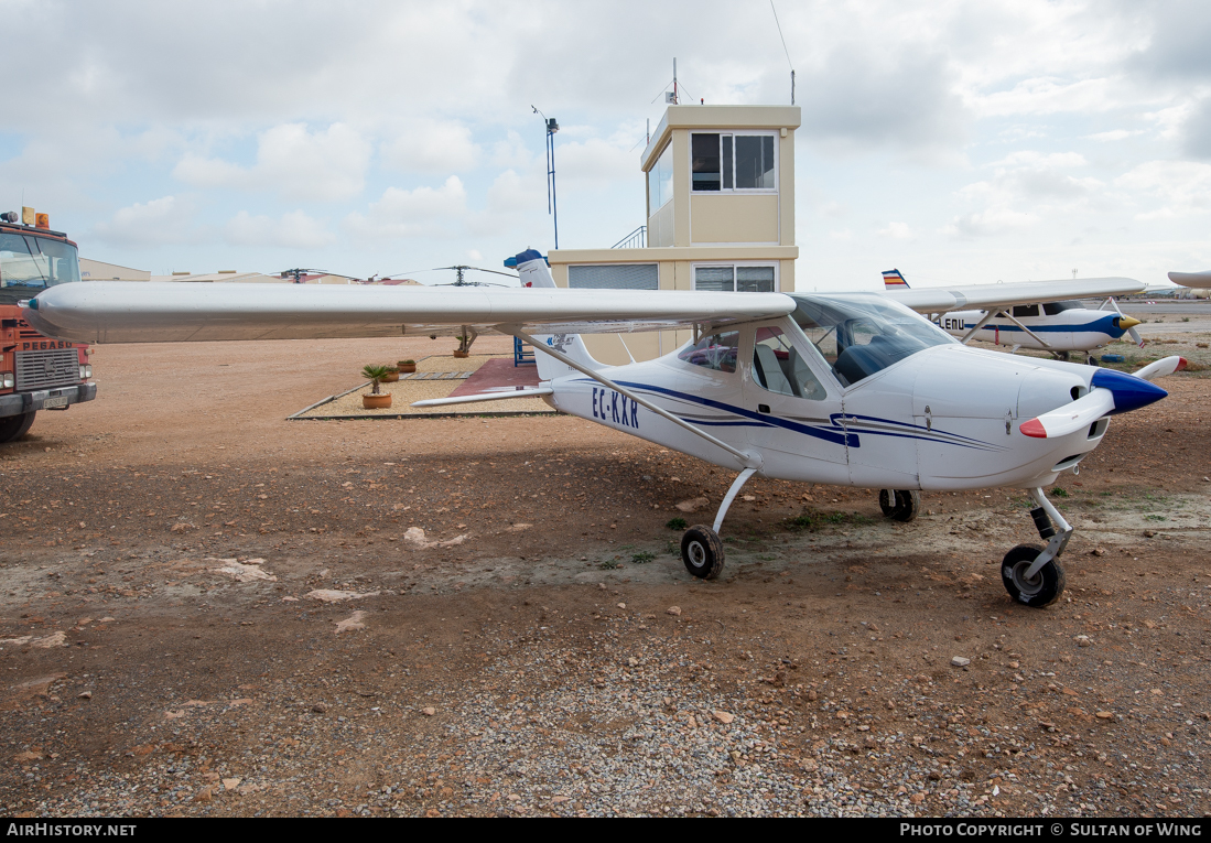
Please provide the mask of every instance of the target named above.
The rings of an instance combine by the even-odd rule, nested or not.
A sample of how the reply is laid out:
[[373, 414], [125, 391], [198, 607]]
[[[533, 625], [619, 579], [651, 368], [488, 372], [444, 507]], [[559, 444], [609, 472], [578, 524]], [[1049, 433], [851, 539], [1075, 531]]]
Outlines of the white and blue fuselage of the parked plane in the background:
[[[1004, 316], [994, 316], [975, 332], [972, 339], [1023, 349], [1091, 351], [1126, 333], [1117, 321], [1120, 315], [1113, 310], [1073, 308], [1055, 315], [1046, 315], [1040, 305], [1020, 305], [1012, 311], [1014, 319], [1029, 328], [1034, 337]], [[1035, 311], [1037, 315], [1027, 315], [1032, 311]], [[952, 337], [962, 339], [987, 312], [986, 310], [955, 310], [934, 322]], [[1044, 340], [1046, 345], [1043, 345], [1039, 339]]]

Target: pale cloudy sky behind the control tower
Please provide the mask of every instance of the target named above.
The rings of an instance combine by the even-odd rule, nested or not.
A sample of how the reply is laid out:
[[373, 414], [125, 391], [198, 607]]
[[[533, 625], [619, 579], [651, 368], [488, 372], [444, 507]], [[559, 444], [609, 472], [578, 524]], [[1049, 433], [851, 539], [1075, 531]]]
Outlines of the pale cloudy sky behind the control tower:
[[[161, 274], [499, 268], [644, 219], [644, 122], [786, 103], [769, 0], [6, 0], [0, 210]], [[790, 2], [800, 289], [1211, 266], [1211, 4]], [[418, 280], [447, 280], [441, 274]]]

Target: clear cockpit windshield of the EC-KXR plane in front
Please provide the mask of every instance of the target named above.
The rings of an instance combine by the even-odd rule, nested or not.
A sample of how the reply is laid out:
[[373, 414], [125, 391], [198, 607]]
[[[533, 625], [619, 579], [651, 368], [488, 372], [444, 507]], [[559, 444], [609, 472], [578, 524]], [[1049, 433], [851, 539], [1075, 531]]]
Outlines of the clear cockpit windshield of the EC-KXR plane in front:
[[856, 384], [905, 357], [958, 340], [908, 308], [882, 296], [793, 296], [791, 317], [832, 366], [842, 386]]

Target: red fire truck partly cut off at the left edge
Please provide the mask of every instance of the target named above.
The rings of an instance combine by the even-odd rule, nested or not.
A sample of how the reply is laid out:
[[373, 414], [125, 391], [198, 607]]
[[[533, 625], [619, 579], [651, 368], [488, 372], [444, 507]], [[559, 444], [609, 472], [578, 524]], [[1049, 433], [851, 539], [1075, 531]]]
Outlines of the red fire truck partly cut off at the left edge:
[[0, 214], [0, 442], [25, 435], [40, 409], [97, 397], [88, 346], [45, 337], [21, 317], [18, 302], [80, 281], [76, 245], [50, 230], [45, 213]]

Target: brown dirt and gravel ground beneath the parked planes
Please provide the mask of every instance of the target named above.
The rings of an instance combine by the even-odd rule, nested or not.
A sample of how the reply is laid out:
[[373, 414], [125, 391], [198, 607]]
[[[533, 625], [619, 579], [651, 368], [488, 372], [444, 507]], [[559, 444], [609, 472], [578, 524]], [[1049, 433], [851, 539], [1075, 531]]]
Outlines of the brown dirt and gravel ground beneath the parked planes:
[[447, 345], [102, 346], [0, 449], [5, 813], [1207, 813], [1211, 379], [1060, 481], [1027, 609], [1015, 491], [753, 482], [701, 583], [666, 522], [730, 474], [563, 415], [285, 420]]

